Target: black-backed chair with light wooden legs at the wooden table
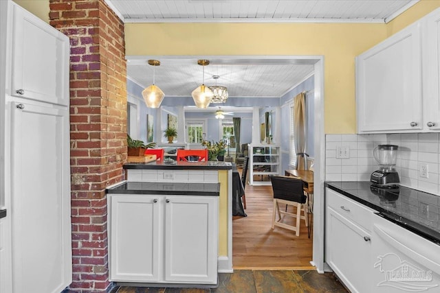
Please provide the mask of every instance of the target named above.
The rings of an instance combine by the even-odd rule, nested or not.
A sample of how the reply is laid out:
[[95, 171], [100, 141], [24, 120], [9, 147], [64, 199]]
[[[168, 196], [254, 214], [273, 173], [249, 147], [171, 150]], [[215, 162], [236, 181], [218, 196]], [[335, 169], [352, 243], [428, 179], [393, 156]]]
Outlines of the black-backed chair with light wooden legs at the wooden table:
[[[307, 218], [307, 196], [303, 190], [303, 180], [288, 176], [271, 176], [272, 189], [274, 191], [274, 209], [272, 211], [272, 228], [279, 226], [294, 231], [296, 236], [300, 235], [300, 220], [305, 220], [305, 225], [309, 226]], [[279, 204], [287, 204], [296, 207], [296, 213], [280, 210]], [[303, 211], [303, 215], [301, 215]], [[276, 220], [278, 214], [278, 220]], [[295, 224], [281, 222], [281, 215], [295, 218]]]

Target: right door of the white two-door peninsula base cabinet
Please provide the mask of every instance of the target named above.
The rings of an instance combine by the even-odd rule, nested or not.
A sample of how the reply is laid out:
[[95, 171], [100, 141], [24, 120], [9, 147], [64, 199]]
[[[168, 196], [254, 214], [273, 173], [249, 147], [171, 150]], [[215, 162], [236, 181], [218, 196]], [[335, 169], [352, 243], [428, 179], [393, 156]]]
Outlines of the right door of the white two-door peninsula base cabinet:
[[217, 283], [217, 214], [217, 197], [166, 197], [166, 282]]

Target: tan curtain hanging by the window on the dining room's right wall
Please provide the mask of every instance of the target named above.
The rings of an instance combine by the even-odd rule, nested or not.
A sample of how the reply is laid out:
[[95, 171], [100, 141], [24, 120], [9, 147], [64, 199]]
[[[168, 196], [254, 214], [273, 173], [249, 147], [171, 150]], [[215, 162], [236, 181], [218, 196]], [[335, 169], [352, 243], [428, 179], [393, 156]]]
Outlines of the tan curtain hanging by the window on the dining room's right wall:
[[296, 150], [296, 169], [307, 169], [305, 153], [305, 93], [294, 98], [294, 139]]

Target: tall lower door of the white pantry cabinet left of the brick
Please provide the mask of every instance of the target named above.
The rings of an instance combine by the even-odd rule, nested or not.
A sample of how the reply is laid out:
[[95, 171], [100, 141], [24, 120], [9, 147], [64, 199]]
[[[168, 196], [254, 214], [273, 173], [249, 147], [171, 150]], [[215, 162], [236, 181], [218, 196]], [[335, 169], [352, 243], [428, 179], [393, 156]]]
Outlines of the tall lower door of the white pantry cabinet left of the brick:
[[69, 111], [10, 105], [14, 292], [61, 292], [72, 283]]

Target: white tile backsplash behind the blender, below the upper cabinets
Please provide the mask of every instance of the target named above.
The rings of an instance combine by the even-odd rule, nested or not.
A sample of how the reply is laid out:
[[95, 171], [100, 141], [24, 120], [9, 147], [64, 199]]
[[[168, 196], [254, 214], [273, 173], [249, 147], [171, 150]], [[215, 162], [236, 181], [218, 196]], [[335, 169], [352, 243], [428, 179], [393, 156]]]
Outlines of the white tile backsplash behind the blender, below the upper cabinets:
[[[327, 134], [326, 180], [370, 180], [378, 168], [374, 148], [383, 143], [399, 145], [396, 169], [401, 185], [440, 196], [440, 134]], [[349, 159], [337, 159], [336, 148], [349, 147]], [[419, 165], [428, 165], [428, 178], [419, 176]]]

